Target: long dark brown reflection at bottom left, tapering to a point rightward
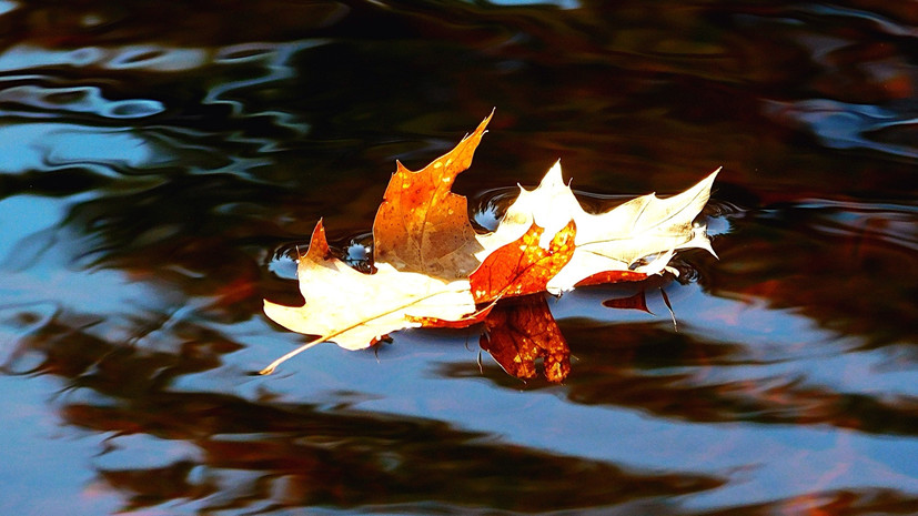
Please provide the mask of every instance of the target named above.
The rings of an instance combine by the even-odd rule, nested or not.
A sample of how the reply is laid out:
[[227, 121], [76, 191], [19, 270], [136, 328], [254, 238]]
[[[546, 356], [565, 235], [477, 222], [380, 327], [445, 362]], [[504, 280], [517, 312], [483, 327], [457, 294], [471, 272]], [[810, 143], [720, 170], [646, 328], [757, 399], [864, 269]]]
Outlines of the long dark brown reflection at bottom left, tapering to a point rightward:
[[[131, 361], [123, 363], [139, 370]], [[346, 405], [321, 409], [270, 398], [153, 389], [113, 405], [67, 404], [61, 413], [80, 427], [185, 439], [200, 448], [200, 459], [181, 459], [165, 468], [100, 469], [108, 483], [130, 494], [132, 507], [219, 493], [202, 508], [244, 508], [265, 500], [278, 507], [353, 507], [424, 499], [443, 505], [475, 500], [529, 512], [678, 495], [723, 482], [627, 472], [507, 447], [435, 421], [351, 412]], [[195, 467], [205, 468], [203, 477], [191, 474]], [[223, 480], [222, 471], [249, 474]]]

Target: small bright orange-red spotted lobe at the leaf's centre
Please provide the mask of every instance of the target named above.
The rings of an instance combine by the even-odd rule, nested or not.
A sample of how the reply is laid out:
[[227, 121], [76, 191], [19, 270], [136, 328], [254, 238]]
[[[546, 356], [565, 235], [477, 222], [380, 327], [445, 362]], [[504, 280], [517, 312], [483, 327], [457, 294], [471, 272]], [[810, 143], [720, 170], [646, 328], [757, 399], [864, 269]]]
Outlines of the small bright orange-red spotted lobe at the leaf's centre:
[[546, 290], [552, 277], [571, 261], [577, 229], [569, 221], [545, 247], [539, 243], [544, 231], [533, 223], [519, 239], [485, 256], [468, 276], [477, 303]]

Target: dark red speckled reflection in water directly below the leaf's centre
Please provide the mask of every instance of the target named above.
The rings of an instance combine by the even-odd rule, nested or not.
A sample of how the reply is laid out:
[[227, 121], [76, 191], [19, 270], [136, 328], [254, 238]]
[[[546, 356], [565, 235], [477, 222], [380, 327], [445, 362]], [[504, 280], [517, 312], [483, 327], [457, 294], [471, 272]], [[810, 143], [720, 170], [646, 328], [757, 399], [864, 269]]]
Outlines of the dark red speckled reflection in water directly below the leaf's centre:
[[486, 332], [480, 345], [508, 374], [535, 377], [535, 361], [539, 357], [549, 382], [563, 382], [571, 372], [571, 351], [543, 294], [498, 304], [484, 324]]

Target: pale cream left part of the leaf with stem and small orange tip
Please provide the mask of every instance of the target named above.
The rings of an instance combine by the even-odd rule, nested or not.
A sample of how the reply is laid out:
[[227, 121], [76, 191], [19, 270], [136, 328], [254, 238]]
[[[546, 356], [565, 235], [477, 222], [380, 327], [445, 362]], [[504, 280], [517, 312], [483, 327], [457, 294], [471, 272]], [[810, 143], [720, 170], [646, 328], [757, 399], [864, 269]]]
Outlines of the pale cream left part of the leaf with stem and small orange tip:
[[420, 326], [417, 317], [458, 321], [475, 312], [468, 281], [446, 282], [387, 263], [376, 263], [374, 274], [351, 269], [331, 255], [321, 220], [306, 254], [300, 256], [296, 276], [306, 303], [283, 306], [265, 300], [264, 313], [289, 330], [319, 338], [279, 358], [263, 374], [320, 342], [362, 350], [390, 332]]

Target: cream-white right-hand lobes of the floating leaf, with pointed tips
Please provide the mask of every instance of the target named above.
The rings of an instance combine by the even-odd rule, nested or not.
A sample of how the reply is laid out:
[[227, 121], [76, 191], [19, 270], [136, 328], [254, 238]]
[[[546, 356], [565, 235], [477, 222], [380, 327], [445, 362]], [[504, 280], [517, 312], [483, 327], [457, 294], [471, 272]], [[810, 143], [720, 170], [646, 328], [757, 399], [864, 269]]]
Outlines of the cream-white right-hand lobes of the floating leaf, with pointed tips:
[[719, 169], [677, 195], [642, 195], [605, 213], [591, 214], [562, 181], [561, 163], [555, 163], [536, 189], [521, 186], [519, 196], [497, 230], [478, 237], [485, 247], [478, 255], [516, 240], [533, 223], [545, 227], [545, 234], [554, 234], [573, 219], [577, 224], [576, 249], [571, 262], [547, 283], [548, 292], [557, 294], [583, 281], [625, 281], [658, 274], [676, 250], [700, 247], [714, 253], [704, 224], [693, 221], [707, 203], [717, 172]]

